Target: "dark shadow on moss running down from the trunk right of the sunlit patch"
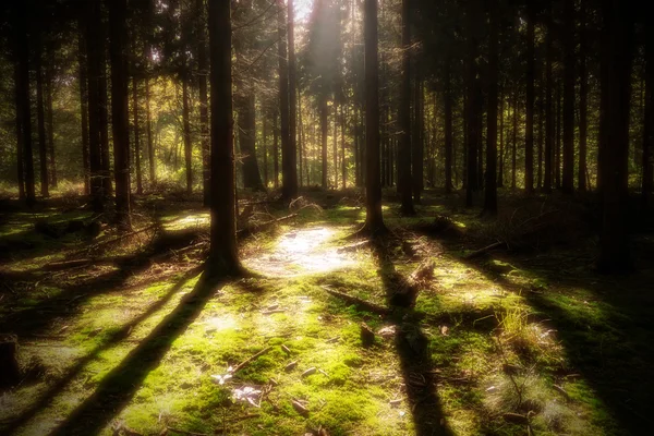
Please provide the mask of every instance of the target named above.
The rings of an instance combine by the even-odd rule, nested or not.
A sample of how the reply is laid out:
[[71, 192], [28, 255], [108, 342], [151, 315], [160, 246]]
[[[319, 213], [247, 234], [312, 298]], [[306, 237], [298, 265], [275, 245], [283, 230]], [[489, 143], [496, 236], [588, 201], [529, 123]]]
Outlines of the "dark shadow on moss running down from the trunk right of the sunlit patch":
[[[399, 274], [383, 239], [373, 241], [373, 252], [379, 268], [379, 275], [386, 299], [390, 305], [393, 294], [404, 286], [405, 278]], [[412, 307], [396, 311], [402, 313], [401, 328], [396, 335], [395, 347], [400, 359], [402, 378], [415, 425], [416, 436], [451, 435], [451, 429], [443, 414], [443, 408], [436, 392], [433, 377], [434, 364], [428, 353], [428, 338], [422, 331], [420, 316]]]

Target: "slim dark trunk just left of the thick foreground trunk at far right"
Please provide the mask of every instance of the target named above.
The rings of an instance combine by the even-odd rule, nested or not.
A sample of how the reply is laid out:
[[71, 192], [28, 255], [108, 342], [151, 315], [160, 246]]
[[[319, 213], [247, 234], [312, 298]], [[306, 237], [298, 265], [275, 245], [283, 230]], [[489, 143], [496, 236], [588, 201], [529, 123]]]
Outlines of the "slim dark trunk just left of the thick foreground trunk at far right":
[[579, 172], [577, 184], [580, 192], [586, 190], [588, 137], [589, 137], [589, 70], [586, 66], [586, 5], [580, 2], [579, 20]]

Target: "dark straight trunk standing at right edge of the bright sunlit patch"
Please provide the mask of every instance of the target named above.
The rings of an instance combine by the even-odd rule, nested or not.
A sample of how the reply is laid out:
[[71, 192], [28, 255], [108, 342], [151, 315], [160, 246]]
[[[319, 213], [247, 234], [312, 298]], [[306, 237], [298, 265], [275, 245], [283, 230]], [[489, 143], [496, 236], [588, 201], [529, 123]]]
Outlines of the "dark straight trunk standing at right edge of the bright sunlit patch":
[[365, 229], [371, 234], [386, 231], [382, 215], [379, 182], [379, 65], [377, 48], [377, 0], [364, 0], [365, 51]]

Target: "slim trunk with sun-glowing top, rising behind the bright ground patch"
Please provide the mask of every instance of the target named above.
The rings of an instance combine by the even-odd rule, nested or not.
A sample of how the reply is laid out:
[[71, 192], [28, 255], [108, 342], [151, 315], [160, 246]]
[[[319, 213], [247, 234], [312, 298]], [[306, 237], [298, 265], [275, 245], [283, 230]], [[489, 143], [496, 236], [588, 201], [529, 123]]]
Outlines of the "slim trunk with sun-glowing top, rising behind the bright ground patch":
[[[282, 196], [292, 199], [298, 196], [298, 152], [296, 152], [296, 120], [298, 120], [298, 81], [295, 80], [295, 21], [293, 16], [293, 0], [288, 0], [288, 51], [289, 51], [289, 149], [287, 150], [288, 165], [284, 175]], [[283, 156], [282, 156], [283, 161]], [[283, 165], [283, 162], [282, 162]], [[283, 170], [282, 170], [283, 171]], [[288, 185], [287, 181], [288, 180]]]

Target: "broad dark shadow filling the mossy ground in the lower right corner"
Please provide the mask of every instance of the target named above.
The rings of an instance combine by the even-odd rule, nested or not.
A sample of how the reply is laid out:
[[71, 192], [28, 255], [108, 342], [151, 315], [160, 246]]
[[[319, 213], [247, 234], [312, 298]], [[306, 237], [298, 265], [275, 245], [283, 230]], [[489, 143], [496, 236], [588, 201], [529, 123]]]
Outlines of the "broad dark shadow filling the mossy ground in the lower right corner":
[[[651, 324], [654, 296], [644, 284], [651, 283], [651, 278], [606, 281], [606, 277], [590, 272], [581, 278], [566, 277], [554, 266], [545, 271], [538, 268], [536, 272], [529, 265], [529, 258], [502, 259], [535, 277], [555, 282], [555, 290], [530, 291], [522, 295], [540, 318], [548, 319], [557, 329], [557, 337], [572, 365], [567, 372], [581, 374], [605, 410], [617, 421], [617, 427], [605, 431], [610, 434], [654, 434], [651, 417], [654, 415], [654, 327]], [[507, 290], [519, 288], [491, 264], [483, 265], [480, 259], [459, 261]], [[641, 289], [638, 289], [639, 286]], [[556, 288], [583, 289], [592, 294], [591, 300], [594, 301], [576, 301], [573, 294]], [[582, 308], [566, 308], [566, 298], [574, 299], [571, 304]], [[600, 305], [601, 317], [588, 314], [583, 310], [585, 304]], [[597, 424], [609, 425], [606, 421]]]

